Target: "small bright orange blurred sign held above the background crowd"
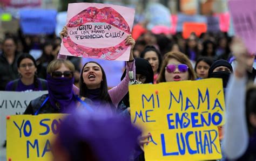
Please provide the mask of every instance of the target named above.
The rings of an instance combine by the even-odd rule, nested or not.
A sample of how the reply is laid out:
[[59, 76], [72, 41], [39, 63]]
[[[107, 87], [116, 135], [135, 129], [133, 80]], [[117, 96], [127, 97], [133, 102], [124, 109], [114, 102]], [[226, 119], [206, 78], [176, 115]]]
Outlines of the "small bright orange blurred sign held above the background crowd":
[[207, 25], [205, 23], [183, 23], [183, 38], [189, 38], [192, 32], [199, 37], [201, 33], [207, 32]]

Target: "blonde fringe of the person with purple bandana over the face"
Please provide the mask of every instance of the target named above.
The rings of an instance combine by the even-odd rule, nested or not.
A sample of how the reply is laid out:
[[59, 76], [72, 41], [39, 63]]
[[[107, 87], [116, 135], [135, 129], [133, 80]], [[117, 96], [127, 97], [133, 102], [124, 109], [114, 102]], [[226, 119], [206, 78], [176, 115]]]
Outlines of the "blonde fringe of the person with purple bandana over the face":
[[67, 68], [69, 68], [70, 71], [75, 72], [75, 66], [72, 64], [71, 61], [57, 59], [50, 62], [50, 64], [47, 67], [47, 73], [51, 74], [52, 72], [60, 68], [62, 64], [64, 64]]

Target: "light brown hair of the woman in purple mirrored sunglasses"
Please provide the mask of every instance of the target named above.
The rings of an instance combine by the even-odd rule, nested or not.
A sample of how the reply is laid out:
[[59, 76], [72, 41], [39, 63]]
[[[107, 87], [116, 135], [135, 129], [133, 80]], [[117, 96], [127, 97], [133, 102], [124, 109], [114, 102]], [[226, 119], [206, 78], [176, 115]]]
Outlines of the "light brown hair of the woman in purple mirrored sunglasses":
[[196, 80], [196, 73], [193, 70], [190, 59], [184, 53], [181, 52], [168, 52], [164, 56], [164, 61], [162, 62], [160, 73], [157, 79], [157, 83], [166, 82], [165, 79], [165, 67], [168, 64], [170, 59], [176, 59], [181, 64], [185, 64], [188, 66], [188, 80]]

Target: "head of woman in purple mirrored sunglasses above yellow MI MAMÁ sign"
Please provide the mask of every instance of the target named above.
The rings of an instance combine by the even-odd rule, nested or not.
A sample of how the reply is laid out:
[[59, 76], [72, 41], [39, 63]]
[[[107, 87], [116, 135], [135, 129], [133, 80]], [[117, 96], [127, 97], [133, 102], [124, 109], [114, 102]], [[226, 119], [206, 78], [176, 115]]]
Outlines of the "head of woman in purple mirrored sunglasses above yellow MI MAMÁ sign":
[[190, 60], [181, 52], [169, 52], [165, 54], [157, 82], [172, 82], [183, 80], [195, 80]]

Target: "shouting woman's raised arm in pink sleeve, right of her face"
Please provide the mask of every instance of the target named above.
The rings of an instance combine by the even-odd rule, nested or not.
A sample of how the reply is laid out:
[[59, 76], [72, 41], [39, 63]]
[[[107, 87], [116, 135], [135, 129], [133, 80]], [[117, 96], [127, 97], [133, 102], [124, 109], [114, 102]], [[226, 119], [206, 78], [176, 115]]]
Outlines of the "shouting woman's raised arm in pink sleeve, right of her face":
[[109, 95], [114, 106], [117, 107], [118, 103], [123, 99], [123, 97], [128, 92], [129, 86], [129, 72], [133, 71], [133, 76], [135, 78], [135, 60], [133, 58], [133, 47], [135, 45], [135, 40], [131, 37], [131, 35], [127, 36], [126, 45], [131, 45], [130, 58], [129, 61], [126, 62], [126, 75], [125, 78], [114, 88], [109, 90]]

